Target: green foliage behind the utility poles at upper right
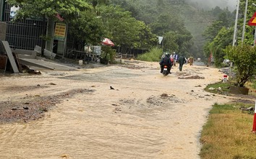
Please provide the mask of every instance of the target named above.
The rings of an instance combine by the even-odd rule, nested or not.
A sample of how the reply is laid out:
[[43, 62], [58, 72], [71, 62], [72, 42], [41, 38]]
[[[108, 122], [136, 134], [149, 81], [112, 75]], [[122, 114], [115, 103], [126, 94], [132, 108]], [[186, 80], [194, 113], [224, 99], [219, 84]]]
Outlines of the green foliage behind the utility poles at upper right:
[[[244, 27], [244, 10], [245, 1], [240, 1], [239, 4], [239, 17], [238, 26], [236, 33], [236, 43], [235, 45], [253, 45], [254, 42], [254, 32], [255, 27], [249, 26], [247, 22], [252, 17], [255, 12], [255, 6], [252, 4], [252, 0], [249, 0], [247, 14], [246, 14], [246, 24]], [[208, 40], [205, 44], [204, 50], [205, 55], [209, 57], [210, 54], [215, 58], [216, 66], [221, 66], [224, 59], [225, 53], [223, 50], [228, 45], [232, 45], [234, 38], [234, 19], [235, 12], [231, 14], [229, 10], [221, 10], [218, 7], [215, 9], [218, 14], [218, 19], [213, 22], [207, 29], [205, 29], [204, 36]], [[242, 41], [242, 33], [244, 29], [244, 40]]]

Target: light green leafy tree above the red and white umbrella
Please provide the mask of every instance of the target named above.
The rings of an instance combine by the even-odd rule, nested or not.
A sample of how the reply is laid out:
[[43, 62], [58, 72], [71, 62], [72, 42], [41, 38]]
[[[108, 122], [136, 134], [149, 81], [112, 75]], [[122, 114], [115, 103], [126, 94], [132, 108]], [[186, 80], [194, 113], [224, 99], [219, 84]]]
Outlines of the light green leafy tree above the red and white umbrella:
[[101, 6], [101, 18], [107, 30], [106, 36], [115, 45], [121, 46], [122, 53], [127, 47], [149, 47], [156, 41], [156, 36], [144, 22], [138, 21], [131, 12], [119, 6]]

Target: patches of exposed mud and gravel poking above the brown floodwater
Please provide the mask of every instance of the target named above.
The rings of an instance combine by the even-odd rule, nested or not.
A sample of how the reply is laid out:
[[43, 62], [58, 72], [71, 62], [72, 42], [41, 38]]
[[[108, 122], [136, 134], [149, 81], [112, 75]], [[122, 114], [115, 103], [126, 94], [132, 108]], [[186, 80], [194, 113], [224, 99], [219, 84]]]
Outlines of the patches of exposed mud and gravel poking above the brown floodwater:
[[[135, 64], [134, 64], [135, 63]], [[140, 61], [128, 61], [128, 63], [124, 63], [119, 65], [121, 68], [128, 68], [128, 69], [135, 69], [135, 70], [143, 70], [150, 68], [147, 65], [140, 66], [136, 65], [140, 63]], [[201, 68], [202, 69], [202, 68]], [[158, 70], [158, 69], [156, 69]], [[200, 70], [198, 68], [197, 70]], [[87, 74], [85, 75], [74, 75], [74, 76], [65, 76], [69, 73], [56, 73], [52, 71], [50, 73], [51, 76], [63, 76], [59, 78], [63, 79], [72, 79], [72, 80], [78, 80], [78, 81], [93, 81], [95, 80], [96, 74], [90, 74], [88, 77]], [[192, 73], [183, 73], [179, 72], [176, 73], [179, 79], [200, 79], [204, 77], [200, 76], [192, 76]], [[22, 76], [22, 75], [20, 75]], [[25, 74], [27, 76], [27, 74]], [[36, 76], [36, 75], [34, 75]], [[114, 78], [122, 77], [122, 76], [128, 76], [127, 73], [118, 73], [114, 76]], [[131, 76], [131, 75], [129, 75]], [[138, 76], [138, 75], [134, 75]], [[38, 75], [40, 77], [40, 75]], [[100, 79], [100, 77], [103, 77]], [[101, 76], [97, 76], [98, 81], [104, 81], [104, 78], [108, 77], [108, 73], [101, 73]], [[111, 77], [109, 77], [111, 78]], [[12, 92], [15, 94], [17, 91], [40, 91], [43, 90], [43, 88], [48, 88], [49, 86], [56, 85], [56, 83], [48, 83], [43, 86], [40, 86], [40, 84], [37, 84], [36, 86], [7, 86], [4, 90], [2, 90], [2, 93], [5, 94], [5, 92]], [[10, 96], [7, 101], [1, 101], [0, 102], [0, 123], [8, 123], [8, 122], [29, 122], [30, 120], [40, 119], [44, 117], [44, 112], [48, 112], [49, 109], [53, 109], [56, 104], [60, 104], [61, 101], [65, 99], [69, 99], [75, 94], [84, 94], [85, 92], [91, 92], [93, 90], [88, 89], [72, 89], [70, 91], [53, 95], [53, 96], [39, 96], [37, 94], [28, 96], [25, 94], [22, 98], [20, 98], [18, 101], [12, 101], [12, 97]], [[134, 104], [135, 105], [145, 105], [145, 104], [135, 104], [135, 101], [127, 100], [127, 99], [121, 99], [121, 101], [126, 104]], [[168, 96], [168, 94], [161, 94], [161, 96], [150, 96], [147, 99], [148, 107], [150, 106], [160, 106], [163, 105], [163, 103], [169, 103], [169, 102], [175, 102], [180, 103], [184, 102], [181, 99], [178, 99], [175, 95]], [[121, 104], [121, 105], [124, 105]], [[129, 106], [131, 108], [131, 106]], [[121, 111], [121, 109], [116, 108], [118, 111]]]

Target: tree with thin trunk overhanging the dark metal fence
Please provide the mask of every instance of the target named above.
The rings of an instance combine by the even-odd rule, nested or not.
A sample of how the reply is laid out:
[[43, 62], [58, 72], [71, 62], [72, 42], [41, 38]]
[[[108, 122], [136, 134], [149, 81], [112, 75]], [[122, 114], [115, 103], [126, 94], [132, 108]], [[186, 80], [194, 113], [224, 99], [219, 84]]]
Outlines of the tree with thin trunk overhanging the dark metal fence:
[[[14, 20], [41, 18], [43, 19], [43, 24], [46, 22], [46, 18], [58, 20], [56, 15], [60, 15], [62, 18], [64, 18], [65, 22], [69, 22], [69, 20], [76, 18], [81, 11], [92, 8], [90, 4], [83, 0], [7, 0], [7, 2], [10, 5], [20, 7]], [[43, 26], [42, 37], [46, 37], [46, 28], [45, 25]], [[43, 38], [41, 46], [42, 56], [45, 43], [46, 38]]]

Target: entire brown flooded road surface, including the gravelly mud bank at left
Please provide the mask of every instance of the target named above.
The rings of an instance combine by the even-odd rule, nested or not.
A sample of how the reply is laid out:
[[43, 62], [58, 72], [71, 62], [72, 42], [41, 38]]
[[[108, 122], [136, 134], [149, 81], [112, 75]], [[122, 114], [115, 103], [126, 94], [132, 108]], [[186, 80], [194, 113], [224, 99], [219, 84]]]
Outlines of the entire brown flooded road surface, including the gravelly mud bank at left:
[[208, 112], [229, 99], [203, 91], [221, 81], [216, 68], [178, 67], [163, 77], [158, 63], [129, 60], [1, 76], [0, 158], [200, 158]]

